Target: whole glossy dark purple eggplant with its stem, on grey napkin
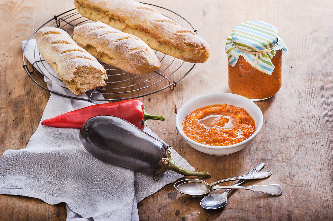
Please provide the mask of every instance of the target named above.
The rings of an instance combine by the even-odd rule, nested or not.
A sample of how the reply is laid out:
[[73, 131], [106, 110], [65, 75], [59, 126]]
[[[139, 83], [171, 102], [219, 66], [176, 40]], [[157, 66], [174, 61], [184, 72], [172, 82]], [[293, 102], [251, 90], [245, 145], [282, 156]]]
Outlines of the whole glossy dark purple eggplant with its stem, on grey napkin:
[[88, 119], [80, 130], [80, 140], [94, 157], [154, 177], [166, 170], [210, 177], [205, 171], [188, 171], [178, 166], [171, 160], [170, 147], [119, 117], [101, 115]]

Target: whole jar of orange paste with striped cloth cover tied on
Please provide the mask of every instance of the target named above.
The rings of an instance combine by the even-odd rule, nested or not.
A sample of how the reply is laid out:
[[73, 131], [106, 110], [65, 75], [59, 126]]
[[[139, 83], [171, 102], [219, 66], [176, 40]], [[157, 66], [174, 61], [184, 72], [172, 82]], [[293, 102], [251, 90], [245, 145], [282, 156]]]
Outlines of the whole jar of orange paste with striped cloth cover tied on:
[[230, 90], [251, 100], [273, 96], [281, 87], [282, 50], [288, 53], [271, 24], [249, 21], [237, 25], [225, 44]]

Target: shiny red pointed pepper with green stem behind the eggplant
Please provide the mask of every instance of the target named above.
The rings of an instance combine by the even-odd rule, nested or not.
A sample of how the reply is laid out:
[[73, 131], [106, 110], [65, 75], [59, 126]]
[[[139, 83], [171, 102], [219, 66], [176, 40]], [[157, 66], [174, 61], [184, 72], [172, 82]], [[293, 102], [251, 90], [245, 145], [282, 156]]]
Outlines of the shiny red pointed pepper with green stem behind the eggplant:
[[135, 99], [91, 105], [43, 120], [42, 125], [59, 128], [81, 128], [89, 118], [98, 115], [120, 117], [142, 130], [145, 128], [145, 125], [147, 125], [146, 120], [165, 120], [164, 116], [147, 114], [142, 101]]

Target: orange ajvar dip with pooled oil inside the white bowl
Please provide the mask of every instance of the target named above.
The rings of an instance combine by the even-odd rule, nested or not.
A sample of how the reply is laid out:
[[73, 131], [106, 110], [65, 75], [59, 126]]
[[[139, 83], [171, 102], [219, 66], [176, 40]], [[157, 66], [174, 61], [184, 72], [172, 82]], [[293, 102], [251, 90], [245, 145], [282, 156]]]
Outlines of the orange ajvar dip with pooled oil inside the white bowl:
[[191, 140], [210, 146], [237, 144], [255, 131], [251, 115], [229, 104], [197, 109], [185, 117], [182, 127]]

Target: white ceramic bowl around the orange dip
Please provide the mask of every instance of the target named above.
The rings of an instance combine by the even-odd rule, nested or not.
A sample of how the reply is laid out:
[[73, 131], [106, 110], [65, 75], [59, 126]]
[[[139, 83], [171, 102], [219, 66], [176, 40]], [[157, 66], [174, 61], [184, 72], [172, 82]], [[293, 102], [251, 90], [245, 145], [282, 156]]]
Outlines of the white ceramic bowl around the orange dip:
[[[236, 107], [244, 108], [254, 119], [256, 127], [254, 134], [252, 134], [249, 138], [238, 144], [228, 146], [209, 146], [205, 144], [200, 144], [188, 138], [182, 129], [182, 123], [184, 118], [196, 109], [213, 104], [231, 104]], [[176, 127], [185, 142], [189, 146], [193, 147], [195, 150], [217, 156], [233, 154], [247, 147], [259, 133], [262, 124], [263, 116], [260, 108], [253, 101], [247, 99], [246, 97], [231, 93], [211, 93], [195, 97], [192, 100], [187, 101], [183, 106], [181, 106], [176, 115]]]

